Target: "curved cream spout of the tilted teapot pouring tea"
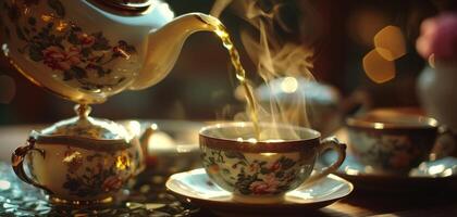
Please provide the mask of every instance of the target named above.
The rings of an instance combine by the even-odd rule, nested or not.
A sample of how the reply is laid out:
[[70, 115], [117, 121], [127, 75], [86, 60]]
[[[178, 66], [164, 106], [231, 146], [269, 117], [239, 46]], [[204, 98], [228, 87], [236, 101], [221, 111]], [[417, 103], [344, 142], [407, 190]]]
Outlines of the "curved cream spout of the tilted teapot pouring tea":
[[149, 31], [143, 68], [129, 88], [144, 89], [162, 80], [173, 68], [188, 36], [201, 30], [215, 31], [222, 24], [213, 16], [189, 13]]

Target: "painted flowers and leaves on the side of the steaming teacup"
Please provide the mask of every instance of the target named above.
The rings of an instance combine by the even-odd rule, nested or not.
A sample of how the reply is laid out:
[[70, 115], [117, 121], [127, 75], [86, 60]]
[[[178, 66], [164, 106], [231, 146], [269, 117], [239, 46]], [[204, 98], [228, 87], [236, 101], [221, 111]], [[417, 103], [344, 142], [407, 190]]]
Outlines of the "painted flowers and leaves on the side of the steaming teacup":
[[[261, 159], [248, 161], [242, 152], [218, 151], [208, 149], [201, 154], [202, 164], [209, 176], [223, 177], [224, 183], [235, 192], [245, 195], [276, 195], [288, 191], [291, 182], [297, 180], [297, 162], [281, 156], [274, 162]], [[236, 161], [231, 168], [222, 168], [226, 161]]]

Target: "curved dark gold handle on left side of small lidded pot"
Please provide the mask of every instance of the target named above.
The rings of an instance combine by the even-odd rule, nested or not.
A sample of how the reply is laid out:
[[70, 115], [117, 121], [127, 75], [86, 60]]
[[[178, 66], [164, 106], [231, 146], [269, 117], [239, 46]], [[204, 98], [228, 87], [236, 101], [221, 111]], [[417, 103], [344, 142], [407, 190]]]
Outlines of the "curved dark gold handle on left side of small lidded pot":
[[41, 154], [42, 157], [45, 157], [45, 150], [36, 149], [35, 141], [35, 138], [30, 137], [28, 138], [26, 145], [20, 146], [16, 150], [14, 150], [13, 154], [11, 155], [11, 164], [13, 166], [14, 173], [22, 181], [37, 187], [39, 189], [42, 189], [49, 194], [51, 193], [51, 191], [48, 188], [41, 186], [40, 183], [29, 178], [24, 170], [24, 158], [29, 151], [37, 151]]

